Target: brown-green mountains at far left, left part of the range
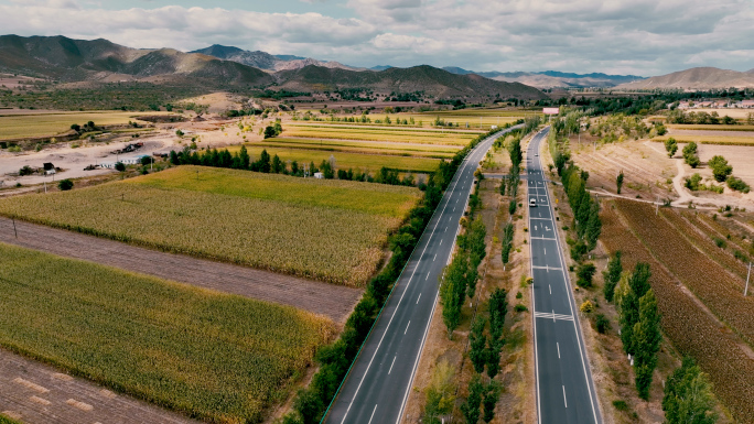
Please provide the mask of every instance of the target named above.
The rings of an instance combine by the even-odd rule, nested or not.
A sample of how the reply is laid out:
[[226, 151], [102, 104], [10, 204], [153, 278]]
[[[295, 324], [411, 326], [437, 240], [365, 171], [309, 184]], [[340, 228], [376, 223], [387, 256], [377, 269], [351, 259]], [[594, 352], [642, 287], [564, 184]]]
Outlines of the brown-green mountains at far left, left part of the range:
[[0, 36], [0, 70], [63, 81], [198, 78], [208, 84], [268, 85], [268, 74], [235, 62], [172, 48], [137, 50], [107, 40]]

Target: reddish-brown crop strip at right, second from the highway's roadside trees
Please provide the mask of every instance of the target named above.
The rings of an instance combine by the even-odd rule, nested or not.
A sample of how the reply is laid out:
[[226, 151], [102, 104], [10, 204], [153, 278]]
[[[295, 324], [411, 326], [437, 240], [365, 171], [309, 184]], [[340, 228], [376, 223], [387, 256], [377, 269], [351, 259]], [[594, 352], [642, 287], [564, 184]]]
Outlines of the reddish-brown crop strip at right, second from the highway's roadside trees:
[[712, 312], [748, 343], [754, 340], [754, 300], [745, 298], [739, 284], [719, 263], [700, 253], [651, 206], [617, 202], [621, 213], [649, 250]]

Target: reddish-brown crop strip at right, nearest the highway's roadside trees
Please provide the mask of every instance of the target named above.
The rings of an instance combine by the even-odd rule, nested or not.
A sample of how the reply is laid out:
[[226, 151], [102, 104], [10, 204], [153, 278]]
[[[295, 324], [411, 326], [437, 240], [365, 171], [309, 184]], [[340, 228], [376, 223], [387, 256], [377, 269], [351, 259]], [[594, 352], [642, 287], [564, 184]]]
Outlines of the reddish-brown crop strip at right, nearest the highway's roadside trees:
[[[626, 228], [608, 203], [602, 211], [602, 236], [605, 248], [623, 253], [625, 269], [637, 261], [651, 267], [651, 287], [663, 314], [663, 331], [682, 354], [693, 357], [710, 374], [714, 391], [740, 422], [754, 421], [754, 360], [747, 346], [710, 316], [657, 262], [647, 248]], [[649, 210], [648, 215], [654, 211]]]

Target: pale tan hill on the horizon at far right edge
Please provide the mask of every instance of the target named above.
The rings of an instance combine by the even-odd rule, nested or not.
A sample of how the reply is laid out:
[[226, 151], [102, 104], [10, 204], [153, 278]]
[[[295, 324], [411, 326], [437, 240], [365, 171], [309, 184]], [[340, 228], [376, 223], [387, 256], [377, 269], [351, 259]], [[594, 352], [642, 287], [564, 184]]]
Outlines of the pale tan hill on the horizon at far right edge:
[[[754, 69], [752, 69], [754, 70]], [[721, 89], [754, 87], [754, 73], [696, 67], [672, 74], [656, 76], [640, 81], [623, 84], [618, 89]]]

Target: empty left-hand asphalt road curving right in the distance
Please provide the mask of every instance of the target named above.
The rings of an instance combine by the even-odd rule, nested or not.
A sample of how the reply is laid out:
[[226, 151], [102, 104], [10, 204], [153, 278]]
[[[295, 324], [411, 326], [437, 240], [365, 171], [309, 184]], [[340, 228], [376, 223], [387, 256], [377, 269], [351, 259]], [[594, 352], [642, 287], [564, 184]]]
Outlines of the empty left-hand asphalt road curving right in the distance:
[[438, 280], [455, 243], [474, 171], [493, 141], [517, 128], [520, 126], [481, 142], [459, 167], [333, 403], [327, 423], [400, 421], [438, 303]]

